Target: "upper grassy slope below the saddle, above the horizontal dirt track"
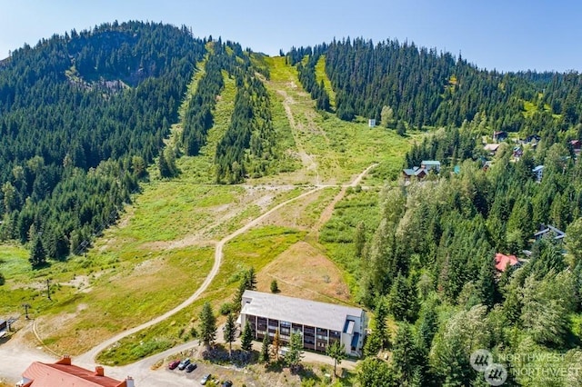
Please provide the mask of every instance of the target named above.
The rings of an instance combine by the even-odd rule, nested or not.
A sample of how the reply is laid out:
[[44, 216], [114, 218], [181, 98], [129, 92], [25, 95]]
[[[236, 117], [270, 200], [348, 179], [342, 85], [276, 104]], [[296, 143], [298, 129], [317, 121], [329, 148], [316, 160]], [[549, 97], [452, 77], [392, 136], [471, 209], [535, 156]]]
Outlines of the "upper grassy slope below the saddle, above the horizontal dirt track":
[[[317, 113], [314, 101], [297, 84], [296, 69], [286, 65], [285, 58], [266, 60], [271, 69], [267, 87], [276, 90], [278, 104], [291, 109], [296, 146], [311, 155], [322, 183], [345, 184], [373, 163], [383, 164], [383, 174], [366, 184], [382, 184], [386, 174], [399, 171], [413, 137], [401, 137], [380, 127], [370, 129], [364, 120], [347, 123], [334, 114]], [[287, 177], [294, 183], [308, 181], [305, 171]]]

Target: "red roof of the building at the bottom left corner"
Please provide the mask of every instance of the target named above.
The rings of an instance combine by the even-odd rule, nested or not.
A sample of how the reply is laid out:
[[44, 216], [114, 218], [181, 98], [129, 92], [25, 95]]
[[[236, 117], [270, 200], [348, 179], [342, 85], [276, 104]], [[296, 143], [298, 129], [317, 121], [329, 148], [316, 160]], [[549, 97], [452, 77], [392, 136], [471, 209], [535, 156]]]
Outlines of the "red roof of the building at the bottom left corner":
[[24, 387], [125, 387], [125, 381], [120, 382], [107, 376], [98, 376], [95, 371], [85, 370], [71, 364], [46, 364], [33, 362], [23, 372]]

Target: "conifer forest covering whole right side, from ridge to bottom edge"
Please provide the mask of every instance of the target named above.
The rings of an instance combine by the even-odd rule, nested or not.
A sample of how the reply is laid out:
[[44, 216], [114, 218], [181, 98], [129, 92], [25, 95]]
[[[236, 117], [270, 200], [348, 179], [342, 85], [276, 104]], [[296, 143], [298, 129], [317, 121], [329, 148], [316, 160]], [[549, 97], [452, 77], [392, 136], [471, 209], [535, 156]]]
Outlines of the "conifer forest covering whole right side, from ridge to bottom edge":
[[[503, 360], [504, 385], [580, 384], [582, 77], [499, 74], [408, 43], [346, 39], [287, 55], [316, 100], [318, 60], [338, 117], [403, 135], [438, 128], [403, 168], [437, 160], [439, 174], [386, 187], [377, 217], [323, 233], [354, 243], [357, 297], [375, 311], [362, 385], [489, 385], [470, 363], [478, 349]], [[547, 225], [558, 232], [537, 235]], [[337, 232], [346, 227], [353, 238]], [[500, 270], [496, 253], [519, 262]]]

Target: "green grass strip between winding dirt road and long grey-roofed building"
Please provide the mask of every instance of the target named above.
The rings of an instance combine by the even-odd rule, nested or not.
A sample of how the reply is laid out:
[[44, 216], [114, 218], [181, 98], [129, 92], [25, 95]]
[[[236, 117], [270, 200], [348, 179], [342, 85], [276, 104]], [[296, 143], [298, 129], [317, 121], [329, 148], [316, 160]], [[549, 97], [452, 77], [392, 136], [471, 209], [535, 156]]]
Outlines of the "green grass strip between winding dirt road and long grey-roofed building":
[[304, 234], [288, 228], [266, 226], [253, 229], [236, 238], [226, 246], [224, 261], [215, 281], [195, 303], [176, 313], [172, 319], [118, 342], [113, 348], [99, 355], [99, 362], [105, 364], [135, 362], [142, 357], [171, 348], [179, 342], [192, 339], [203, 303], [210, 302], [217, 313], [222, 303], [232, 300], [242, 273], [250, 267], [260, 271], [277, 255], [300, 240]]

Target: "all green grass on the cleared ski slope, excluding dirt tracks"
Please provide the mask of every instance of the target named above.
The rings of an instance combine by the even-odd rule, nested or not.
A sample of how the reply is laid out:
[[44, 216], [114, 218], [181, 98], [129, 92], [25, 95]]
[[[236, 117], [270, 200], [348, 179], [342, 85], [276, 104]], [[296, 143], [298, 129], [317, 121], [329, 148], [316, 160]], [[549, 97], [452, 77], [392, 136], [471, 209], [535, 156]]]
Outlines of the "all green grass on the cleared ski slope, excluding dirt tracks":
[[[261, 208], [253, 200], [245, 202], [245, 186], [212, 184], [216, 144], [230, 124], [236, 95], [235, 81], [225, 73], [215, 126], [201, 155], [180, 157], [176, 164], [182, 173], [171, 180], [156, 179], [156, 167], [150, 167], [152, 181], [142, 185], [142, 193], [127, 206], [122, 220], [105, 230], [86, 255], [71, 257], [66, 263], [51, 262], [49, 267], [33, 271], [24, 248], [0, 247], [0, 271], [6, 277], [0, 287], [0, 312], [22, 313], [22, 303], [30, 303], [31, 314], [37, 318], [40, 334], [50, 348], [61, 353], [84, 352], [116, 332], [165, 313], [194, 293], [213, 262], [214, 249], [209, 242], [220, 240], [268, 208], [305, 192], [305, 185], [313, 184], [316, 174], [321, 183], [346, 184], [370, 164], [380, 163], [363, 182], [378, 187], [399, 173], [402, 156], [416, 134], [403, 138], [386, 129], [370, 129], [363, 119], [346, 123], [334, 114], [317, 113], [315, 103], [298, 84], [296, 69], [285, 65], [285, 58], [259, 59], [269, 66], [266, 87], [280, 139], [277, 146], [285, 152], [277, 161], [279, 174], [252, 179], [248, 184], [291, 184], [296, 185], [295, 189], [274, 192], [272, 200]], [[201, 74], [193, 78], [189, 94]], [[293, 100], [288, 105], [296, 130], [286, 117], [286, 97]], [[173, 130], [176, 136], [179, 124]], [[316, 169], [301, 168], [299, 149], [312, 157]], [[337, 190], [326, 189], [304, 205], [297, 226], [308, 229], [316, 224]], [[356, 261], [349, 256], [349, 237], [358, 220], [376, 222], [377, 209], [371, 203], [375, 195], [374, 190], [348, 193], [336, 204], [332, 219], [321, 233], [327, 253], [345, 271], [352, 288]], [[373, 233], [373, 228], [370, 225], [368, 232]], [[196, 303], [168, 321], [126, 338], [114, 350], [105, 352], [102, 361], [132, 362], [191, 339], [202, 303], [210, 301], [217, 311], [220, 303], [232, 298], [243, 270], [254, 266], [260, 271], [290, 245], [307, 239], [306, 233], [266, 226], [239, 236], [226, 245], [216, 280]], [[51, 283], [52, 300], [45, 295], [46, 279]]]

